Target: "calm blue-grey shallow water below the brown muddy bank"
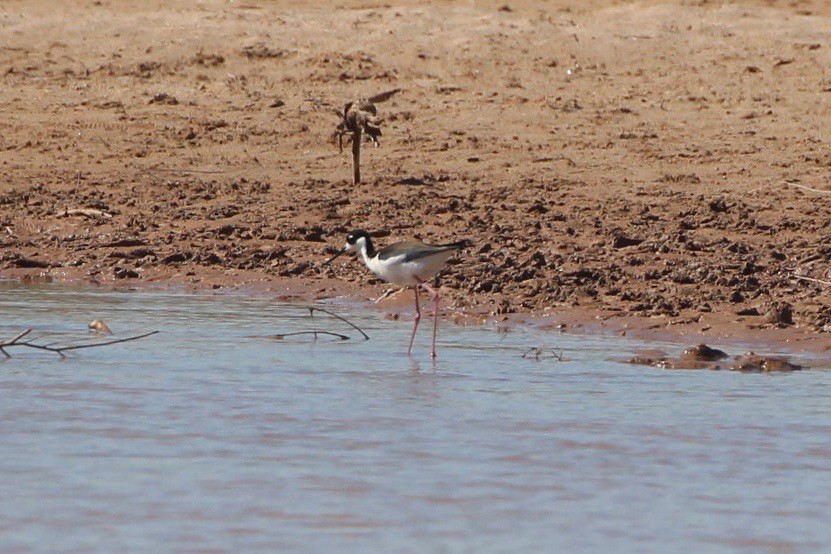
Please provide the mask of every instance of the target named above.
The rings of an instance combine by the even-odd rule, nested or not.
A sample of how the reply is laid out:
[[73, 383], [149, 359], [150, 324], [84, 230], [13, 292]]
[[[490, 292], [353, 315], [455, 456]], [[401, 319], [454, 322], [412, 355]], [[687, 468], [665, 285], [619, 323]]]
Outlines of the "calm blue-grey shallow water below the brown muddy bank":
[[[665, 371], [618, 338], [0, 283], [0, 552], [820, 552], [831, 372]], [[568, 361], [526, 360], [532, 346]], [[657, 345], [667, 347], [667, 345]], [[682, 345], [672, 345], [675, 353]]]

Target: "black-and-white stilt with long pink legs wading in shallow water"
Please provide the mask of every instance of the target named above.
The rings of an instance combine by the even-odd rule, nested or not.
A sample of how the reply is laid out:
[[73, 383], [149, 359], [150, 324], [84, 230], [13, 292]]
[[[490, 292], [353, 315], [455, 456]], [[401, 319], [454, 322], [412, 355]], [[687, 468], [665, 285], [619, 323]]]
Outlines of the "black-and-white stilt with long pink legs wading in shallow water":
[[398, 242], [381, 250], [376, 250], [369, 233], [363, 229], [352, 231], [346, 236], [346, 246], [332, 256], [324, 265], [332, 263], [338, 256], [347, 252], [358, 252], [366, 266], [375, 275], [401, 286], [412, 286], [415, 291], [416, 313], [413, 317], [413, 332], [410, 334], [410, 346], [407, 354], [413, 349], [415, 332], [421, 320], [421, 308], [418, 304], [418, 289], [426, 290], [435, 302], [433, 311], [433, 340], [430, 354], [436, 357], [436, 329], [439, 324], [439, 293], [427, 284], [438, 273], [447, 260], [462, 249], [467, 241], [451, 244], [424, 244], [418, 241]]

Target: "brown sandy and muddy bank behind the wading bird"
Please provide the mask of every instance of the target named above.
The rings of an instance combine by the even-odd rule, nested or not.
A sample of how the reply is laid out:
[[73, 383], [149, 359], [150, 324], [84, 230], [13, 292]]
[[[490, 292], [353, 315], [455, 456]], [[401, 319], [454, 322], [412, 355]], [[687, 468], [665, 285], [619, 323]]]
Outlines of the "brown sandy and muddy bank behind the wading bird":
[[375, 299], [366, 228], [473, 242], [457, 320], [828, 350], [826, 2], [307, 4], [3, 2], [0, 275]]

